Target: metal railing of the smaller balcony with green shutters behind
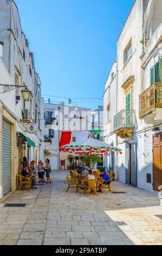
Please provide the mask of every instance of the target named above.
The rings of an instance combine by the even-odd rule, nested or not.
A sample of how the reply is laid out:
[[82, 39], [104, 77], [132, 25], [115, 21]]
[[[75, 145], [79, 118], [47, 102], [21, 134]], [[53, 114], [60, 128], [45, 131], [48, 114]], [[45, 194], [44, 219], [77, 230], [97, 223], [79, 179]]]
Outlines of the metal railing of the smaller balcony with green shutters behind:
[[114, 117], [114, 132], [121, 129], [133, 129], [135, 126], [134, 110], [122, 110]]

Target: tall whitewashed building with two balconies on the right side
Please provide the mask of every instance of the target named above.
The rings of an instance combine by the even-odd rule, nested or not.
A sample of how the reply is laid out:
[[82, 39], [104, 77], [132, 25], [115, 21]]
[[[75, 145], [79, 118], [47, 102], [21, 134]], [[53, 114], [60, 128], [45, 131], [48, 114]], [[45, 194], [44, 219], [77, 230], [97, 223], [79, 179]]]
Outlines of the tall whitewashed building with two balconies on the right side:
[[161, 8], [159, 0], [135, 1], [117, 40], [117, 93], [110, 85], [104, 95], [104, 109], [116, 105], [104, 114], [115, 114], [104, 136], [123, 151], [113, 160], [117, 179], [149, 191], [162, 184]]

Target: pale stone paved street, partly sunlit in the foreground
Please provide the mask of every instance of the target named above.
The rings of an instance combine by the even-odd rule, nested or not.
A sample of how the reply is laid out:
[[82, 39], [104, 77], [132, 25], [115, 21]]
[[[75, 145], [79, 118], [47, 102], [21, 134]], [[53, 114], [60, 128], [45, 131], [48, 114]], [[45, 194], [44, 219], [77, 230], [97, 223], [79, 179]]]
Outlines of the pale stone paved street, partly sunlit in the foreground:
[[[66, 190], [66, 171], [52, 185], [16, 191], [0, 203], [0, 245], [162, 245], [156, 194], [114, 182], [113, 191], [84, 196]], [[25, 208], [4, 208], [26, 203]]]

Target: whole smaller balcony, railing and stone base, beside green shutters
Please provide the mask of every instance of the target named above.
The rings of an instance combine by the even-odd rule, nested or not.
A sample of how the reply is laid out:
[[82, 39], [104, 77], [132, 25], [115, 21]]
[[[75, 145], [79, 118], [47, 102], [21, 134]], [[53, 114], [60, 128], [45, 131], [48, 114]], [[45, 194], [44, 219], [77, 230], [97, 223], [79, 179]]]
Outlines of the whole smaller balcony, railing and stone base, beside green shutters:
[[135, 126], [134, 110], [122, 110], [114, 117], [114, 132], [121, 138], [132, 137]]

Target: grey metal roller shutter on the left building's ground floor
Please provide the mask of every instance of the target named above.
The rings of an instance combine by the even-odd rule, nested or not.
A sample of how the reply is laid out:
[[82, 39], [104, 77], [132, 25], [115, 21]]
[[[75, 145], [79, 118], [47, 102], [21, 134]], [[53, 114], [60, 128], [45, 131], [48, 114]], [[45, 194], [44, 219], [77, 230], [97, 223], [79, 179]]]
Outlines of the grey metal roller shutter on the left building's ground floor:
[[2, 135], [2, 186], [3, 195], [11, 191], [11, 125], [5, 120]]

